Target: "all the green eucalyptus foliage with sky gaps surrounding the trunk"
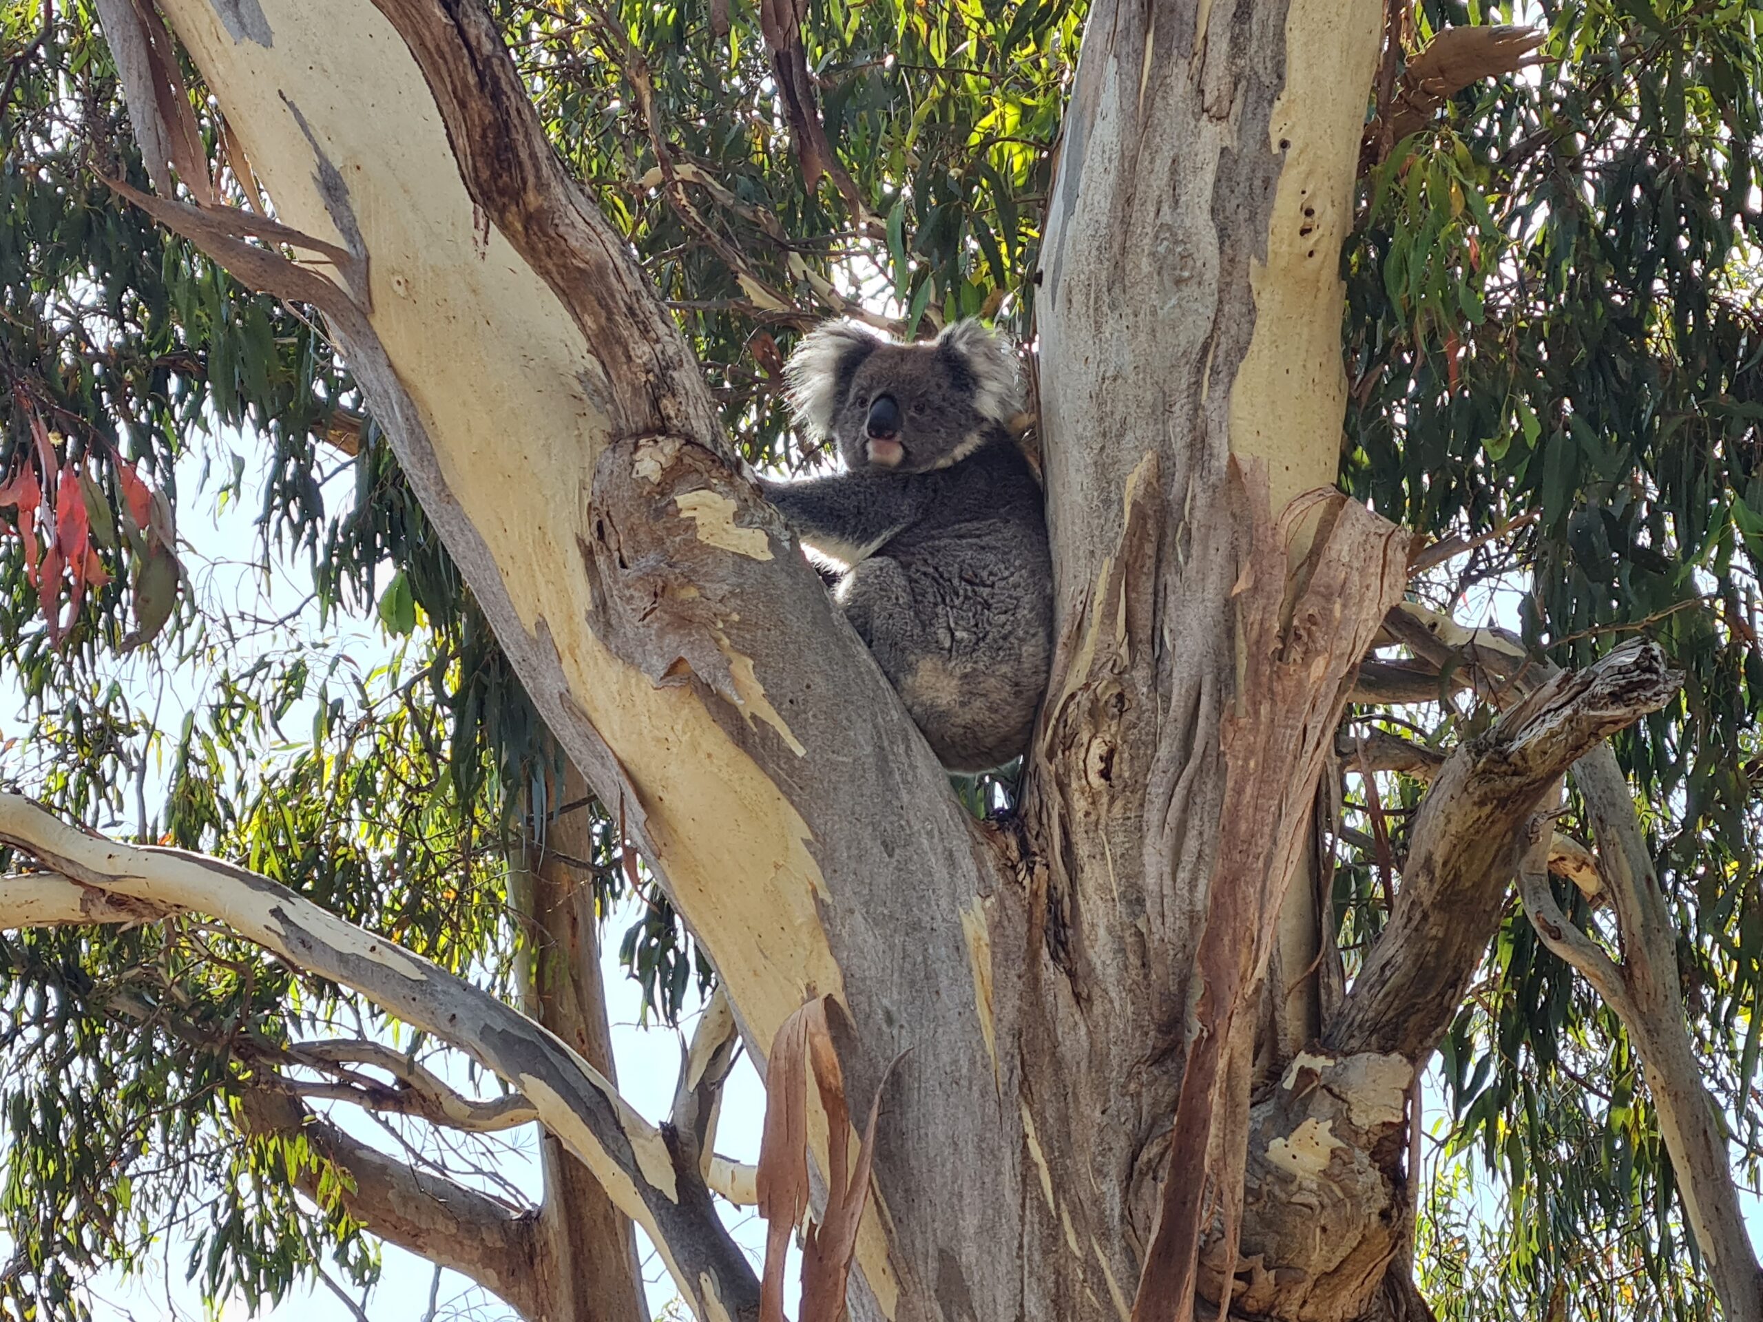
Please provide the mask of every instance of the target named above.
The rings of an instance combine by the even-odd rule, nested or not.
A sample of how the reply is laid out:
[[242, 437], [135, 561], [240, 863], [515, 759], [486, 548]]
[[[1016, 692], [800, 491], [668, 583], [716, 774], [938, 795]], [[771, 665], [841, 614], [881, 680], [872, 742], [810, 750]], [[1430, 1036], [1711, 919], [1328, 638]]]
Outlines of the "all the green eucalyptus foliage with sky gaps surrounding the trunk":
[[[822, 316], [1031, 331], [1081, 4], [816, 5], [802, 58], [843, 178], [813, 185], [753, 7], [494, 9], [756, 464], [816, 458], [779, 365]], [[1682, 702], [1618, 751], [1754, 1179], [1763, 7], [1537, 12], [1544, 63], [1465, 90], [1363, 180], [1342, 483], [1435, 536], [1500, 532], [1423, 585], [1437, 605], [1511, 601], [1562, 665], [1641, 631], [1687, 668]], [[1500, 19], [1423, 4], [1410, 49]], [[222, 192], [257, 204], [187, 74]], [[148, 187], [90, 4], [0, 0], [0, 675], [25, 723], [0, 774], [93, 827], [238, 858], [510, 996], [510, 860], [589, 811], [584, 880], [642, 892], [626, 959], [677, 1014], [709, 968], [615, 818], [557, 802], [559, 754], [323, 326], [99, 182]], [[217, 511], [252, 534], [217, 550]], [[1483, 714], [1359, 719], [1442, 747]], [[1380, 783], [1396, 853], [1419, 795]], [[1386, 915], [1372, 807], [1359, 783], [1336, 841], [1349, 966]], [[338, 1024], [395, 1031], [194, 920], [0, 936], [0, 1313], [78, 1317], [86, 1273], [145, 1267], [173, 1229], [215, 1299], [279, 1297], [321, 1264], [370, 1278], [335, 1186], [319, 1218], [291, 1195], [312, 1155], [234, 1123], [240, 1079]], [[1440, 1317], [1710, 1315], [1634, 1054], [1516, 911], [1439, 1075], [1419, 1269]]]

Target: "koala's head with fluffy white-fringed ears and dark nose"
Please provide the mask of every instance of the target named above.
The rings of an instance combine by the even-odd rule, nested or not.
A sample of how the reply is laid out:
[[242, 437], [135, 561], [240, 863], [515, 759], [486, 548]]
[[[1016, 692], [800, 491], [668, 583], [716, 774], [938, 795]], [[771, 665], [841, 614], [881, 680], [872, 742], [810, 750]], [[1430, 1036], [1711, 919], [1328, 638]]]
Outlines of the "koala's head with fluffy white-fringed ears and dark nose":
[[848, 469], [926, 472], [966, 458], [1021, 407], [1015, 354], [975, 321], [929, 344], [822, 326], [786, 368], [797, 416]]

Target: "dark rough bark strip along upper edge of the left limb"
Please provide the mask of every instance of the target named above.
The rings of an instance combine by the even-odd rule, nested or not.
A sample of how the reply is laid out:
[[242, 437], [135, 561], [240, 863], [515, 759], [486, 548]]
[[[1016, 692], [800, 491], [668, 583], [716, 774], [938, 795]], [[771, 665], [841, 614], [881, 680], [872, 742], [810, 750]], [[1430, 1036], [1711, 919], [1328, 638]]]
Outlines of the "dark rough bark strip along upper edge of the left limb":
[[[615, 435], [686, 435], [733, 462], [696, 360], [629, 245], [545, 137], [476, 0], [374, 0], [428, 81], [471, 199], [552, 287], [601, 360]], [[601, 375], [601, 374], [596, 374]]]

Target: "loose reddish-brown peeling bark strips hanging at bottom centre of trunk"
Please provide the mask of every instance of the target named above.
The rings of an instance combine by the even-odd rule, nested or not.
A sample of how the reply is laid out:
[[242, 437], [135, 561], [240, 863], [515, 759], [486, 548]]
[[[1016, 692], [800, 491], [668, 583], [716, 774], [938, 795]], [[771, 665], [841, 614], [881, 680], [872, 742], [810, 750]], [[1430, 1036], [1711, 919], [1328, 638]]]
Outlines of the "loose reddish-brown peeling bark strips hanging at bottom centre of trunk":
[[820, 1107], [827, 1116], [827, 1211], [802, 1237], [802, 1303], [799, 1322], [839, 1322], [844, 1285], [857, 1251], [857, 1227], [869, 1197], [874, 1160], [876, 1116], [882, 1089], [894, 1066], [883, 1072], [869, 1103], [850, 1165], [852, 1114], [844, 1100], [844, 1072], [832, 1047], [827, 1001], [820, 996], [783, 1021], [772, 1040], [765, 1068], [765, 1135], [760, 1142], [756, 1176], [758, 1211], [767, 1222], [765, 1274], [760, 1287], [762, 1322], [783, 1322], [783, 1266], [790, 1230], [807, 1211], [807, 1075], [813, 1072]]

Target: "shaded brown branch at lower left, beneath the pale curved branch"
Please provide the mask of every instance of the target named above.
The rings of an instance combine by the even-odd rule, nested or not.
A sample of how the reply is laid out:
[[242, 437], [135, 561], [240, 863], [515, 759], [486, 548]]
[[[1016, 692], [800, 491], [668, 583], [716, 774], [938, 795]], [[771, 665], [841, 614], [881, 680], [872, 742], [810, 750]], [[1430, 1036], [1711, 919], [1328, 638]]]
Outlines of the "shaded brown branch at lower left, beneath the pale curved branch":
[[[249, 1133], [300, 1133], [347, 1176], [344, 1209], [381, 1239], [469, 1276], [522, 1317], [539, 1315], [534, 1290], [534, 1218], [372, 1147], [307, 1110], [275, 1084], [252, 1082], [240, 1095]], [[301, 1167], [294, 1183], [317, 1199], [319, 1170]]]

